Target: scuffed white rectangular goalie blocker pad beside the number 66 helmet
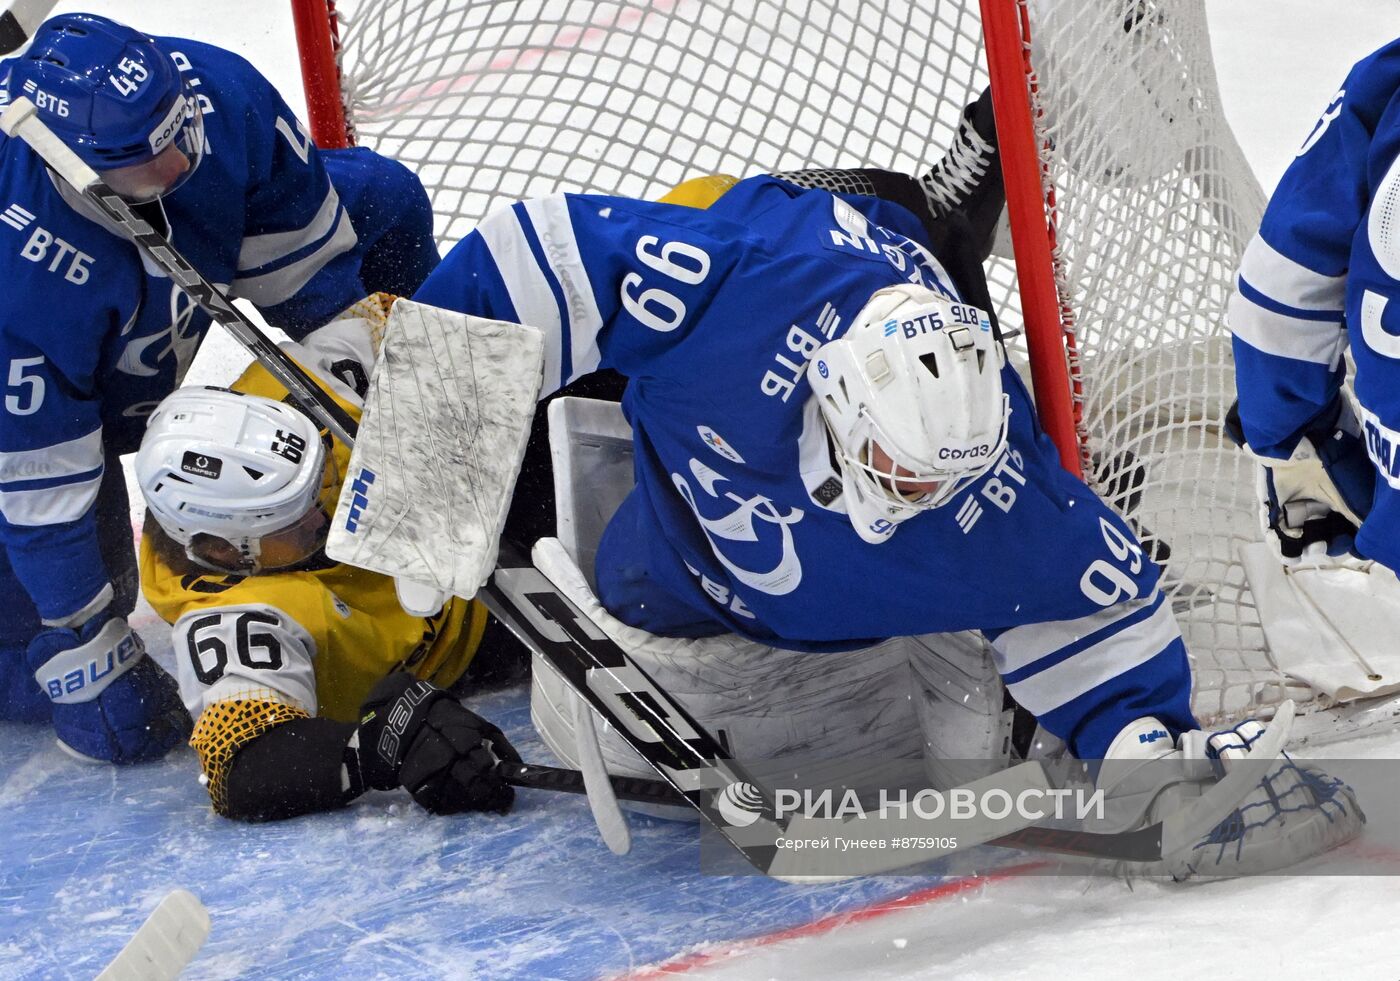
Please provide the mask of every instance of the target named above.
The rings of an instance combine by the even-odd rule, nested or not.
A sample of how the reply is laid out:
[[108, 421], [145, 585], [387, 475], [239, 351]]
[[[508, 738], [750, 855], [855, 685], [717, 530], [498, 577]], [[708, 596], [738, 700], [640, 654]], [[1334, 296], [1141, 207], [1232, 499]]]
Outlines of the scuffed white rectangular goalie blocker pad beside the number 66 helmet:
[[535, 327], [395, 302], [326, 554], [473, 596], [496, 567], [543, 364]]

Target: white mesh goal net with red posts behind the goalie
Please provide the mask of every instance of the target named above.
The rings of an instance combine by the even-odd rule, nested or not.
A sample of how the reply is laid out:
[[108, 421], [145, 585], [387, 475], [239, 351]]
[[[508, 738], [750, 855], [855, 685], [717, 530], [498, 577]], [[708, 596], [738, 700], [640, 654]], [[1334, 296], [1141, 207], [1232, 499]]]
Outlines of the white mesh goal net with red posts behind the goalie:
[[1221, 112], [1203, 0], [293, 6], [316, 143], [413, 168], [442, 244], [557, 190], [923, 174], [990, 66], [1016, 263], [988, 277], [1046, 430], [1170, 549], [1203, 722], [1326, 707], [1270, 658], [1236, 557], [1260, 532], [1253, 466], [1222, 437], [1224, 309], [1264, 199]]

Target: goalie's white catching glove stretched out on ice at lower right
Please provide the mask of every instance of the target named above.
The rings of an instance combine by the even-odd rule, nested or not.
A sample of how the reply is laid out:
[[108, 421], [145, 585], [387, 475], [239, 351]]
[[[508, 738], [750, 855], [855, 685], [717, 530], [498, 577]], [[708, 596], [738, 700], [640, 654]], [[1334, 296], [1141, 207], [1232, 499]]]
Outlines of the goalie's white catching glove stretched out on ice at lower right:
[[[1221, 732], [1186, 732], [1173, 743], [1155, 718], [1138, 719], [1117, 735], [1099, 771], [1107, 819], [1123, 830], [1162, 820], [1247, 757], [1263, 733], [1264, 725], [1249, 719]], [[1228, 819], [1168, 856], [1161, 872], [1177, 882], [1274, 872], [1350, 841], [1365, 821], [1350, 786], [1284, 753]]]

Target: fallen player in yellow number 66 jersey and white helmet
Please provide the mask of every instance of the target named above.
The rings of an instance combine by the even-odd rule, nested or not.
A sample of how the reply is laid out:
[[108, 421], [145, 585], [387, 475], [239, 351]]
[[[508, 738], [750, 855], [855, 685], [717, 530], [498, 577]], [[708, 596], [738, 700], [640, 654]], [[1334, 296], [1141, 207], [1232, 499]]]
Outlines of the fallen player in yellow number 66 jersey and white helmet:
[[[370, 319], [284, 350], [358, 418]], [[234, 390], [179, 389], [151, 416], [141, 589], [172, 624], [214, 809], [269, 820], [403, 786], [435, 813], [504, 810], [512, 791], [491, 768], [518, 756], [445, 691], [500, 627], [462, 599], [413, 616], [388, 577], [326, 558], [347, 462], [258, 364]]]

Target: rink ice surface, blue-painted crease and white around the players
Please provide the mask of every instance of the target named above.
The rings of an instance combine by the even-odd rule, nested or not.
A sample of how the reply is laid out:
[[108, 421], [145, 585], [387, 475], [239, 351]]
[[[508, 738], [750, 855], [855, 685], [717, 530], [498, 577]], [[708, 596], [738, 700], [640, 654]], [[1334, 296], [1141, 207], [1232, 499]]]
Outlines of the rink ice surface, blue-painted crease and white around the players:
[[[232, 48], [301, 109], [284, 0], [88, 8]], [[1266, 188], [1347, 67], [1400, 35], [1394, 0], [1208, 8], [1226, 113]], [[192, 381], [227, 381], [242, 362], [214, 330]], [[137, 626], [168, 658], [148, 610]], [[477, 708], [526, 758], [546, 758], [524, 691]], [[578, 799], [522, 793], [505, 817], [434, 819], [381, 793], [336, 814], [239, 826], [210, 812], [188, 750], [115, 771], [74, 763], [38, 729], [0, 725], [0, 980], [92, 977], [175, 887], [213, 917], [192, 978], [592, 978], [678, 954], [678, 973], [732, 978], [1400, 973], [1400, 880], [1386, 876], [792, 887], [701, 876], [694, 830], [648, 819], [634, 821], [633, 852], [615, 858]], [[1400, 756], [1400, 736], [1330, 753]]]

